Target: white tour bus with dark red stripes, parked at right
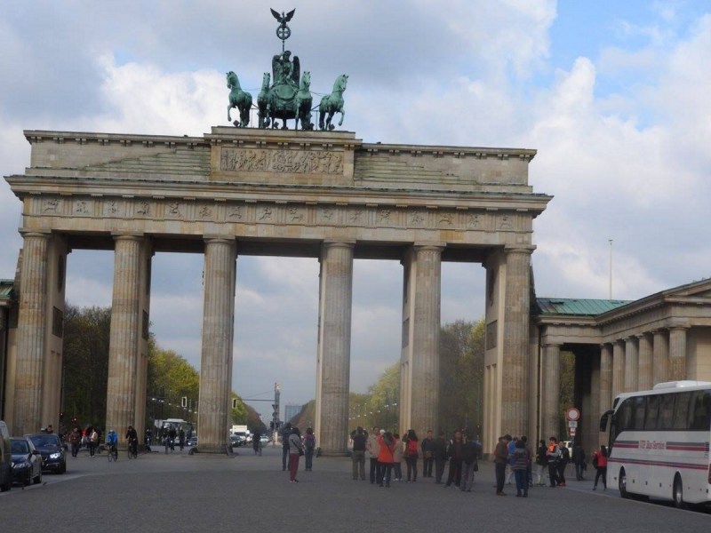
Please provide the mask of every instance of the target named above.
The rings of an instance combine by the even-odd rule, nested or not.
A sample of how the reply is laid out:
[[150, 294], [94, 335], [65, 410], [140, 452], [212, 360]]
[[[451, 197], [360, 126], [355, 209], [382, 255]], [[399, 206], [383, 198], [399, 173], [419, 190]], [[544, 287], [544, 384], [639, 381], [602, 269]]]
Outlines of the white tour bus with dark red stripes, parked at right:
[[622, 497], [672, 500], [677, 507], [711, 500], [711, 382], [672, 381], [619, 394], [610, 420], [607, 484]]

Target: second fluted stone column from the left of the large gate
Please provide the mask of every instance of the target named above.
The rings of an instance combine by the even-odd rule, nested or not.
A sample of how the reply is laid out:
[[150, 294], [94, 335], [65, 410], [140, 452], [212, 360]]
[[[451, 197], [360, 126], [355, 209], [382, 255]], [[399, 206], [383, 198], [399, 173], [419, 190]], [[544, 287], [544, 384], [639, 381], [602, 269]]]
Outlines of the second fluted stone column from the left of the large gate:
[[120, 442], [136, 422], [136, 372], [140, 339], [141, 235], [114, 237], [114, 293], [108, 341], [106, 429]]

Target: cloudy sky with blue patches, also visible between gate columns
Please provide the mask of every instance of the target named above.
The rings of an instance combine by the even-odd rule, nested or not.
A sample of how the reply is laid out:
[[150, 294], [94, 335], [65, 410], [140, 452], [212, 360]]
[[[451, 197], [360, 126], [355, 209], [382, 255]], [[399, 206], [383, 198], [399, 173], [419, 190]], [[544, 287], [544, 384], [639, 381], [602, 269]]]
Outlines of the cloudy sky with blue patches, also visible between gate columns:
[[[229, 125], [225, 72], [256, 95], [281, 52], [312, 91], [347, 73], [343, 129], [366, 142], [535, 148], [539, 297], [636, 299], [709, 275], [711, 4], [704, 0], [0, 0], [0, 174], [23, 130], [202, 135]], [[0, 180], [0, 277], [20, 202]], [[610, 244], [612, 240], [612, 245]], [[156, 254], [158, 343], [199, 365], [202, 256]], [[74, 251], [68, 301], [109, 306], [113, 258]], [[356, 260], [351, 390], [400, 351], [402, 267]], [[443, 265], [442, 320], [483, 315], [479, 265]], [[283, 403], [316, 388], [316, 259], [237, 261], [233, 388]], [[257, 410], [267, 410], [254, 403]]]

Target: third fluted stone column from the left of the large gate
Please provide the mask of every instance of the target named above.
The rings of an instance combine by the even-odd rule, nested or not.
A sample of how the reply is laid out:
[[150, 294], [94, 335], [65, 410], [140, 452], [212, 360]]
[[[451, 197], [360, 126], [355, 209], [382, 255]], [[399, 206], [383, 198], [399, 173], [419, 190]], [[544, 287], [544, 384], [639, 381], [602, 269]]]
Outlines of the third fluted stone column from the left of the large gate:
[[197, 421], [200, 451], [225, 452], [232, 393], [236, 243], [205, 238], [203, 349]]

